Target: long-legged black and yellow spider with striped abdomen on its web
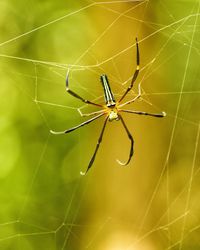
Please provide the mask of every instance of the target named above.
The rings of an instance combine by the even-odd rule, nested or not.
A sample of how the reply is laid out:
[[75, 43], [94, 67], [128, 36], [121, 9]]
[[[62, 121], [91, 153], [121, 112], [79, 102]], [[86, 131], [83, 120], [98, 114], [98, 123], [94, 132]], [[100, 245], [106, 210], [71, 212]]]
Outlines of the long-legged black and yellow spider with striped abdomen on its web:
[[[86, 103], [86, 104], [89, 104], [89, 105], [93, 105], [93, 106], [96, 106], [96, 107], [99, 107], [101, 108], [100, 111], [96, 111], [96, 112], [92, 112], [92, 113], [89, 113], [89, 114], [81, 114], [81, 116], [93, 116], [91, 119], [87, 120], [87, 121], [84, 121], [83, 123], [77, 125], [77, 126], [74, 126], [70, 129], [67, 129], [67, 130], [64, 130], [64, 131], [61, 131], [61, 132], [56, 132], [56, 131], [53, 131], [53, 130], [50, 130], [50, 132], [52, 134], [67, 134], [67, 133], [70, 133], [80, 127], [83, 127], [91, 122], [93, 122], [94, 120], [97, 120], [99, 119], [101, 116], [106, 116], [105, 120], [104, 120], [104, 123], [103, 123], [103, 128], [101, 130], [101, 133], [100, 133], [100, 136], [99, 136], [99, 139], [97, 141], [97, 144], [96, 144], [96, 148], [95, 148], [95, 151], [93, 153], [93, 156], [89, 162], [89, 165], [86, 169], [85, 172], [80, 172], [81, 175], [85, 175], [88, 170], [92, 167], [93, 163], [94, 163], [94, 160], [95, 160], [95, 157], [96, 157], [96, 154], [98, 152], [98, 149], [99, 149], [99, 146], [102, 142], [102, 138], [103, 138], [103, 134], [104, 134], [104, 131], [105, 131], [105, 127], [106, 127], [106, 124], [107, 122], [111, 122], [111, 121], [121, 121], [127, 135], [128, 135], [128, 138], [130, 140], [130, 143], [131, 143], [131, 146], [130, 146], [130, 152], [129, 152], [129, 157], [128, 157], [128, 160], [126, 162], [121, 162], [119, 160], [117, 160], [117, 162], [120, 164], [120, 165], [128, 165], [128, 163], [130, 162], [132, 156], [133, 156], [133, 153], [134, 153], [134, 150], [133, 150], [133, 146], [134, 146], [134, 140], [133, 140], [133, 137], [130, 133], [130, 131], [128, 130], [128, 127], [126, 126], [125, 122], [124, 122], [124, 119], [122, 118], [121, 116], [121, 113], [131, 113], [131, 114], [137, 114], [137, 115], [147, 115], [147, 116], [154, 116], [154, 117], [164, 117], [166, 116], [166, 113], [165, 112], [161, 112], [159, 114], [156, 114], [156, 113], [147, 113], [147, 112], [143, 112], [143, 111], [135, 111], [135, 110], [127, 110], [127, 109], [123, 109], [122, 107], [125, 106], [125, 105], [128, 105], [130, 103], [133, 103], [135, 102], [137, 99], [139, 99], [141, 97], [141, 87], [140, 87], [140, 84], [138, 85], [138, 94], [136, 97], [134, 97], [133, 99], [127, 101], [127, 102], [124, 102], [122, 103], [122, 101], [124, 100], [124, 98], [126, 97], [126, 95], [130, 92], [130, 90], [133, 88], [133, 85], [138, 77], [138, 74], [139, 74], [139, 70], [140, 70], [140, 53], [139, 53], [139, 45], [138, 45], [138, 40], [136, 38], [136, 69], [135, 69], [135, 72], [133, 74], [133, 77], [132, 77], [132, 80], [131, 80], [131, 83], [130, 85], [128, 86], [128, 88], [126, 89], [126, 91], [124, 92], [124, 94], [121, 96], [121, 98], [118, 100], [118, 101], [115, 101], [115, 98], [114, 98], [114, 95], [112, 93], [112, 90], [111, 90], [111, 87], [109, 85], [109, 81], [108, 81], [108, 77], [107, 75], [103, 74], [100, 76], [100, 80], [101, 80], [101, 83], [103, 85], [103, 91], [104, 91], [104, 99], [105, 99], [105, 105], [102, 105], [102, 104], [98, 104], [98, 103], [94, 103], [92, 101], [89, 101], [83, 97], [81, 97], [80, 95], [76, 94], [74, 91], [72, 91], [70, 88], [69, 88], [69, 71], [67, 73], [67, 77], [66, 77], [66, 90], [67, 92], [74, 96], [75, 98], [81, 100], [82, 102]], [[95, 116], [94, 116], [95, 115]]]

